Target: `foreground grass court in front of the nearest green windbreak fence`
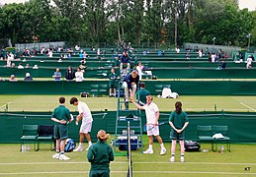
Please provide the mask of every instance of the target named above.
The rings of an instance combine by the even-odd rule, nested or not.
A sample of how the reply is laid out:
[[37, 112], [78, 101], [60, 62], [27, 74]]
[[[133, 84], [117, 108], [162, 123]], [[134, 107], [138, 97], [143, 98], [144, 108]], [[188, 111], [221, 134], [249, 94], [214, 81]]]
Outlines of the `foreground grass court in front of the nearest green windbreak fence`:
[[[146, 138], [145, 138], [146, 142]], [[145, 143], [146, 145], [147, 143]], [[171, 144], [165, 155], [159, 155], [160, 148], [154, 144], [153, 154], [143, 154], [141, 150], [132, 151], [133, 176], [245, 176], [256, 175], [255, 145], [231, 145], [231, 152], [186, 152], [185, 162], [179, 162], [179, 148], [176, 162], [169, 162]], [[202, 145], [210, 148], [210, 145]], [[69, 152], [69, 161], [51, 158], [54, 153], [48, 145], [39, 151], [20, 152], [18, 144], [0, 145], [0, 175], [2, 176], [88, 176], [90, 163], [86, 151]], [[147, 147], [146, 147], [147, 148]], [[247, 168], [247, 170], [245, 169]], [[128, 172], [126, 156], [116, 156], [111, 163], [112, 177], [125, 177]]]

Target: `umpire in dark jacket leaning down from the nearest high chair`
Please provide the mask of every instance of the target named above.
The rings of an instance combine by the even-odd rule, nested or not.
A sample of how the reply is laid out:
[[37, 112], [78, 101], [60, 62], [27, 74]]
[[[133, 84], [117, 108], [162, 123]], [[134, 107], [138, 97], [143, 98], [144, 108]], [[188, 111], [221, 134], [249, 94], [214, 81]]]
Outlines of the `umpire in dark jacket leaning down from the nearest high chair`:
[[128, 93], [130, 98], [133, 98], [133, 95], [136, 92], [137, 84], [139, 81], [139, 77], [137, 75], [137, 71], [133, 70], [126, 78], [124, 79], [123, 87], [125, 88], [125, 105], [126, 109], [128, 109]]

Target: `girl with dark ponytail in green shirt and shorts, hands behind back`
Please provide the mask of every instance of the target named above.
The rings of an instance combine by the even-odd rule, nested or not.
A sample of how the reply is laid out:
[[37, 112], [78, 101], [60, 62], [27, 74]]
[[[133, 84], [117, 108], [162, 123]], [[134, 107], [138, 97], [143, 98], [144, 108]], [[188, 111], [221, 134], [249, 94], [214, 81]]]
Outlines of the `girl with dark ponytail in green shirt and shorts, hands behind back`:
[[182, 111], [182, 103], [180, 101], [177, 101], [175, 103], [175, 109], [176, 110], [173, 111], [169, 117], [169, 124], [172, 127], [170, 133], [170, 138], [172, 140], [172, 156], [170, 158], [170, 161], [175, 161], [175, 148], [176, 142], [178, 140], [181, 146], [181, 162], [184, 162], [184, 130], [189, 125], [189, 119], [187, 114], [184, 111]]

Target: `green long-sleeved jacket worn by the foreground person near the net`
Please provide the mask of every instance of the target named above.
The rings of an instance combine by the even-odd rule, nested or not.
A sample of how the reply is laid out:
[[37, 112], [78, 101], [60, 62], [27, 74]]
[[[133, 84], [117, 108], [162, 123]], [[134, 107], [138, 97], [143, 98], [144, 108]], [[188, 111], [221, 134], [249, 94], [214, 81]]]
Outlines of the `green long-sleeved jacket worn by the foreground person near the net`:
[[106, 143], [98, 141], [89, 148], [87, 159], [91, 162], [91, 170], [109, 169], [114, 160], [113, 149]]

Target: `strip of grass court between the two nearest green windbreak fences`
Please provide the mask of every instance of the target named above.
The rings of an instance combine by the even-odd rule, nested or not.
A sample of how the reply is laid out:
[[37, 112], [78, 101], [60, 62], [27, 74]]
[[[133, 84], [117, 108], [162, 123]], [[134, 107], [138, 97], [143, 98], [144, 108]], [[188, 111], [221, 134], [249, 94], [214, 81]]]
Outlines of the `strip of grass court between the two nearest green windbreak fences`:
[[[1, 95], [0, 111], [4, 111], [8, 104], [9, 111], [52, 111], [58, 105], [58, 97], [62, 95]], [[76, 107], [69, 104], [72, 96], [77, 96], [85, 101], [92, 111], [104, 111], [105, 109], [116, 111], [117, 98], [109, 97], [80, 97], [80, 95], [64, 95], [66, 106], [71, 111]], [[185, 111], [231, 111], [231, 112], [255, 112], [256, 96], [180, 96], [177, 99], [154, 98], [160, 112], [172, 111], [176, 101], [182, 101]], [[130, 108], [132, 108], [130, 104]], [[134, 108], [134, 107], [133, 107]]]

